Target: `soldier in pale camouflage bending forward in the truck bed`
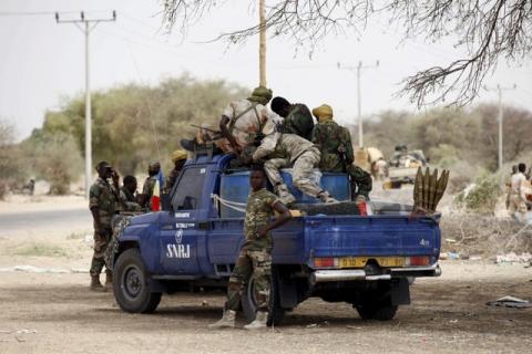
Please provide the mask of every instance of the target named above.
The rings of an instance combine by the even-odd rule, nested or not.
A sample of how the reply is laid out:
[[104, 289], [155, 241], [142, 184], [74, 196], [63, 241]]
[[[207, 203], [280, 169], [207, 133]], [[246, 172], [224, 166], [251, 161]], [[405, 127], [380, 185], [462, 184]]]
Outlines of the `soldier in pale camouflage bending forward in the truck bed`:
[[263, 132], [266, 137], [253, 154], [253, 159], [269, 158], [264, 163], [264, 169], [280, 201], [285, 205], [296, 201], [280, 176], [280, 168], [291, 165], [291, 179], [296, 188], [306, 195], [320, 199], [323, 202], [337, 202], [327, 190], [321, 189], [311, 178], [313, 168], [318, 166], [321, 157], [321, 153], [316, 145], [295, 134], [277, 133], [268, 125], [265, 126]]

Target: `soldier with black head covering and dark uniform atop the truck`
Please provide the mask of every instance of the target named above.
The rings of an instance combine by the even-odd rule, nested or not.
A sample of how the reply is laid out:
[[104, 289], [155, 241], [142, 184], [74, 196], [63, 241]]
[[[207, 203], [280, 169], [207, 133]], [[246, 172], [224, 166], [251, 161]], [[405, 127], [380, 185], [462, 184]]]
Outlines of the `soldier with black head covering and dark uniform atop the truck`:
[[308, 107], [301, 103], [290, 104], [284, 97], [272, 100], [272, 111], [284, 119], [280, 133], [296, 134], [310, 140], [314, 129], [314, 118]]

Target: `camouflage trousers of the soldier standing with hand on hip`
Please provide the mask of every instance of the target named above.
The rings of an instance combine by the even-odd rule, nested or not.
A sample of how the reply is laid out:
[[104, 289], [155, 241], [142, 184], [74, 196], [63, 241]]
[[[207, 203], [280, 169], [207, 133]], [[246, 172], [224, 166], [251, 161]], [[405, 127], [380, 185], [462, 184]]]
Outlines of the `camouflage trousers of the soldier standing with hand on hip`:
[[272, 282], [272, 253], [269, 251], [252, 251], [242, 248], [227, 285], [225, 310], [238, 311], [242, 294], [253, 274], [257, 306], [268, 311], [269, 289]]

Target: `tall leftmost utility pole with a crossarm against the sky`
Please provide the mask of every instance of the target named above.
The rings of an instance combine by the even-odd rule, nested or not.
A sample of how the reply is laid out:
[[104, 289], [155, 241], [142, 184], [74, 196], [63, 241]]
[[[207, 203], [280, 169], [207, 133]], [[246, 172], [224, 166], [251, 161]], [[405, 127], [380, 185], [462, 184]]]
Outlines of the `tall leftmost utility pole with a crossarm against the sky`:
[[90, 46], [89, 34], [100, 22], [116, 21], [116, 11], [113, 10], [111, 18], [86, 19], [85, 13], [81, 11], [80, 19], [62, 20], [60, 13], [55, 12], [57, 23], [73, 23], [85, 35], [85, 198], [89, 199], [89, 189], [91, 188], [92, 176], [92, 117], [91, 117], [91, 75], [90, 75]]

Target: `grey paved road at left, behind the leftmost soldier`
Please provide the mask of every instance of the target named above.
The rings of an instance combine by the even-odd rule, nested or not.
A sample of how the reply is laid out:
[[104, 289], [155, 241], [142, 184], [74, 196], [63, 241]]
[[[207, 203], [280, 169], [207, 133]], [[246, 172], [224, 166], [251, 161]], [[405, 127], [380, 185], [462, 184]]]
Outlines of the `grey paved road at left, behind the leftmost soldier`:
[[33, 233], [39, 230], [89, 230], [91, 227], [92, 217], [86, 208], [0, 214], [0, 236], [11, 236], [24, 231]]

